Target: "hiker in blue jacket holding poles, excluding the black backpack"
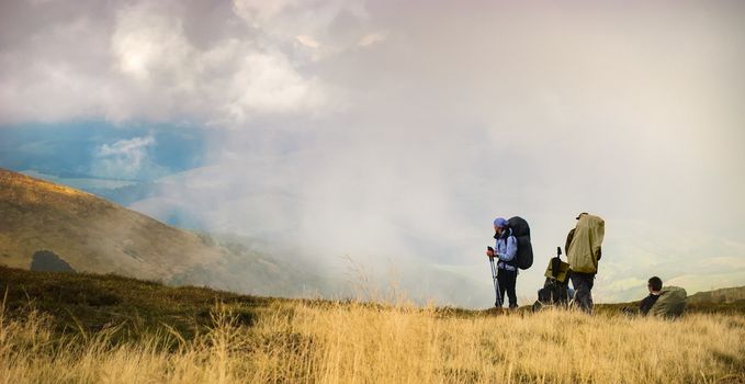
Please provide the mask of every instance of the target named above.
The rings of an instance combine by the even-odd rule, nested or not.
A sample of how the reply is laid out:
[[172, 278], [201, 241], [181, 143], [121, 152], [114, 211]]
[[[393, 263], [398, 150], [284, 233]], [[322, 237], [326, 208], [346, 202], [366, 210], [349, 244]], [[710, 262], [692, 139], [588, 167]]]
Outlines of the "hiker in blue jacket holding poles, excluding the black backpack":
[[[494, 249], [488, 249], [486, 256], [489, 258], [497, 258], [497, 282], [499, 292], [507, 292], [509, 297], [509, 307], [517, 308], [518, 298], [515, 293], [515, 285], [517, 284], [518, 268], [517, 268], [517, 250], [518, 241], [512, 236], [512, 229], [509, 228], [509, 223], [503, 217], [497, 217], [494, 221], [494, 238], [497, 240]], [[504, 295], [498, 295], [497, 307], [501, 307], [505, 302]]]

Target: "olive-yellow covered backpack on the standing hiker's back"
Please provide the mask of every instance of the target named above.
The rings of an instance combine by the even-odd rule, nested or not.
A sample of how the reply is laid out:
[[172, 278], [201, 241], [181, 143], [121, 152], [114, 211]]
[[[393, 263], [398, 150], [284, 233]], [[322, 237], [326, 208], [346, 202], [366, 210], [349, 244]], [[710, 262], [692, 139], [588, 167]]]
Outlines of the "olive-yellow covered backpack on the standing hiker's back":
[[606, 236], [606, 222], [594, 215], [583, 215], [574, 228], [574, 236], [566, 257], [572, 271], [597, 273], [602, 238]]

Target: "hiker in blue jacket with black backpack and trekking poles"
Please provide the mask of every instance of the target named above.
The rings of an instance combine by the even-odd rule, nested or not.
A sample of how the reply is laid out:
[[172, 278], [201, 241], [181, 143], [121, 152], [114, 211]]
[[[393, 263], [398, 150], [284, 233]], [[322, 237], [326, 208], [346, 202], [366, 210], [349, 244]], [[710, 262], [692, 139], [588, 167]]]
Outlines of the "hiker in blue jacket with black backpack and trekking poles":
[[[518, 307], [517, 285], [518, 268], [528, 269], [533, 263], [533, 253], [530, 245], [530, 228], [528, 223], [520, 217], [509, 221], [504, 217], [494, 219], [495, 248], [488, 247], [486, 256], [494, 263], [497, 260], [496, 307], [501, 307], [505, 302], [505, 293], [509, 297], [510, 309]], [[493, 269], [494, 273], [494, 269]]]

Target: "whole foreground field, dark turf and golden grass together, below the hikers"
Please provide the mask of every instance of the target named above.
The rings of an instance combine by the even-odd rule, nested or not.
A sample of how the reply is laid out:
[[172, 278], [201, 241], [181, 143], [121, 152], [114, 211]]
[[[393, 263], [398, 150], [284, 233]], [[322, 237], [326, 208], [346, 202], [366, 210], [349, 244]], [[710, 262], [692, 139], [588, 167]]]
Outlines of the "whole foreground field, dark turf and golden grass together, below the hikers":
[[3, 383], [745, 383], [738, 313], [501, 314], [0, 276]]

